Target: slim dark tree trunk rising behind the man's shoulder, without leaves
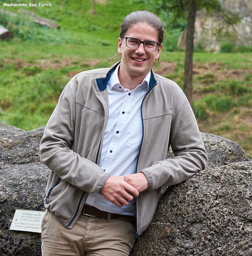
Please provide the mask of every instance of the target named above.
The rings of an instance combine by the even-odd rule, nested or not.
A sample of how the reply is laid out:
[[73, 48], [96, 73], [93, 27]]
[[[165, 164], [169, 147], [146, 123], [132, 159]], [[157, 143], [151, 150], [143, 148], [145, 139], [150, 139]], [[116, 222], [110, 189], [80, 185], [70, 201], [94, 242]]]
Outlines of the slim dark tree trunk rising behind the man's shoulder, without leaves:
[[194, 22], [196, 17], [196, 0], [189, 0], [187, 31], [186, 31], [186, 48], [184, 61], [184, 93], [193, 106], [193, 52], [194, 52]]

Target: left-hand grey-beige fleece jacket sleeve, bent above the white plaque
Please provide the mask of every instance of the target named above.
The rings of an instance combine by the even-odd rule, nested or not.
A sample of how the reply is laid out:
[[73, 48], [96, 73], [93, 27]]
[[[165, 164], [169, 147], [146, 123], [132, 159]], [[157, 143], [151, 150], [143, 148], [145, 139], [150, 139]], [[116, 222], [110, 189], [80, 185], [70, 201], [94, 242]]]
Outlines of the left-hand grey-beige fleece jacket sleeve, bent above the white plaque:
[[74, 78], [62, 91], [40, 142], [40, 160], [62, 180], [89, 193], [100, 193], [110, 176], [94, 162], [71, 150], [75, 128]]

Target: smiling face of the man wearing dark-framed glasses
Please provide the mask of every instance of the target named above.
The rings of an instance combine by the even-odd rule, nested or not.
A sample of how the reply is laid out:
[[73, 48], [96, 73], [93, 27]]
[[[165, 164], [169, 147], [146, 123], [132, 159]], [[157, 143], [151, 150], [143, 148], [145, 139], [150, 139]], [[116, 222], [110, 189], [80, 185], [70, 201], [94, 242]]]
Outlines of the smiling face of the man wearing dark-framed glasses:
[[[152, 26], [146, 23], [138, 23], [131, 26], [125, 37], [140, 39], [141, 41], [150, 40], [158, 42], [158, 32]], [[147, 75], [154, 61], [159, 58], [162, 44], [155, 51], [148, 51], [143, 48], [141, 43], [138, 48], [129, 48], [126, 46], [126, 39], [118, 39], [118, 53], [121, 54], [120, 70], [126, 72], [129, 77]], [[142, 60], [142, 61], [136, 61]]]

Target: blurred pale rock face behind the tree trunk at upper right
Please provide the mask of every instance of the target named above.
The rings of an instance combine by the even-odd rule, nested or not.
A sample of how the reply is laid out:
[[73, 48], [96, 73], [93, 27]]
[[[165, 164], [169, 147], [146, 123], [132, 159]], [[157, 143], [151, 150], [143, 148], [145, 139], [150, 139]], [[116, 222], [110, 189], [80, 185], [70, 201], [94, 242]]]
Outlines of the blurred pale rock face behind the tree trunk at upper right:
[[[228, 22], [218, 12], [197, 11], [194, 23], [194, 45], [205, 50], [220, 50], [223, 43], [251, 47], [252, 2], [251, 0], [220, 0], [227, 13], [240, 17], [236, 24]], [[181, 33], [178, 47], [185, 49], [186, 29]]]

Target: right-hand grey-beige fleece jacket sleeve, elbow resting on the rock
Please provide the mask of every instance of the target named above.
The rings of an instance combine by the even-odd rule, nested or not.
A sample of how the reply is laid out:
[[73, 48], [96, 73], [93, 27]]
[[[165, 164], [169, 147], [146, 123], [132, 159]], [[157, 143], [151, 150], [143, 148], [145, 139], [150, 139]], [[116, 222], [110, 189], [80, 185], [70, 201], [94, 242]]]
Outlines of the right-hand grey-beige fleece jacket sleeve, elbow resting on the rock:
[[175, 157], [143, 169], [147, 190], [178, 184], [205, 169], [208, 158], [193, 110], [182, 93], [182, 102], [171, 123], [170, 144]]

